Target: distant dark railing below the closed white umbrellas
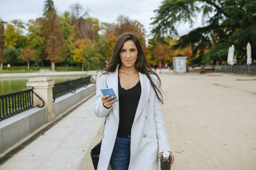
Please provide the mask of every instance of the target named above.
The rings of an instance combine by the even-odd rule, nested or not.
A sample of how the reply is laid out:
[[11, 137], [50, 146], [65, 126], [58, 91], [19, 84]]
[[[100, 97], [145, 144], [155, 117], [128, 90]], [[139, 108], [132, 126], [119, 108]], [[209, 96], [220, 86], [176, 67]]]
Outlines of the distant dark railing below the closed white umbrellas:
[[256, 65], [214, 65], [214, 71], [256, 75]]

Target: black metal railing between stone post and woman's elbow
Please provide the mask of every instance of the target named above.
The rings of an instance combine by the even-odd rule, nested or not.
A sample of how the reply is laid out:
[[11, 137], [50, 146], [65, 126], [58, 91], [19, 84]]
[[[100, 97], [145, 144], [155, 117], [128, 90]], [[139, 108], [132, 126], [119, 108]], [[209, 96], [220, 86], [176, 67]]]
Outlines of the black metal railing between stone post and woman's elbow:
[[60, 83], [55, 83], [54, 87], [52, 88], [53, 92], [53, 102], [55, 101], [55, 98], [60, 97], [62, 95], [66, 95], [69, 92], [75, 93], [76, 89], [81, 87], [87, 87], [88, 84], [90, 84], [91, 75], [88, 77], [81, 77], [79, 79], [75, 80], [67, 80]]

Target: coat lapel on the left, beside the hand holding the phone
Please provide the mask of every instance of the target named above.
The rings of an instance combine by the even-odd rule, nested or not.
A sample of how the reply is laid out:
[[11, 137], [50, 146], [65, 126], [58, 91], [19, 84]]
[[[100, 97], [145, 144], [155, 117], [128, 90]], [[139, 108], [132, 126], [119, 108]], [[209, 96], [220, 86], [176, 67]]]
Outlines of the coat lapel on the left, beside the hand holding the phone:
[[[107, 86], [108, 88], [113, 88], [116, 97], [119, 102], [119, 95], [118, 95], [118, 66], [116, 67], [116, 71], [113, 73], [110, 73], [108, 78], [107, 78]], [[113, 107], [113, 112], [116, 117], [117, 122], [119, 122], [119, 103], [115, 102], [112, 107]]]

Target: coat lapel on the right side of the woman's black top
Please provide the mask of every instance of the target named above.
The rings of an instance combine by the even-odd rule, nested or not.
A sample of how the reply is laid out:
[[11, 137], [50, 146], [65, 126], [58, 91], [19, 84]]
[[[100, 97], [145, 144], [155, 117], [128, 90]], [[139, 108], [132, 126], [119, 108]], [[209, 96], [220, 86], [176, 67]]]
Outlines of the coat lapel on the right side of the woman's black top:
[[140, 77], [140, 84], [141, 84], [141, 94], [140, 94], [140, 100], [137, 107], [137, 111], [135, 113], [133, 123], [137, 120], [137, 118], [142, 112], [142, 109], [148, 102], [149, 91], [150, 91], [150, 81], [147, 78], [147, 75], [139, 72], [139, 77]]

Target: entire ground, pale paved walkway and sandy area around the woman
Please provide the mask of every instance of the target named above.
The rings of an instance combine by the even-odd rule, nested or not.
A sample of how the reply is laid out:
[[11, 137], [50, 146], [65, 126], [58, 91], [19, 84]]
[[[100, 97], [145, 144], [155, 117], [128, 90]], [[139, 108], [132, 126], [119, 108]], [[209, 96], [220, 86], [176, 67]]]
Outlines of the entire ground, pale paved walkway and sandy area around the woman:
[[[159, 74], [172, 169], [256, 170], [256, 77], [225, 73]], [[63, 118], [0, 169], [93, 169], [100, 141], [93, 98]], [[99, 130], [100, 129], [100, 130]]]

